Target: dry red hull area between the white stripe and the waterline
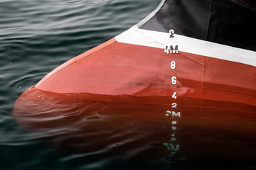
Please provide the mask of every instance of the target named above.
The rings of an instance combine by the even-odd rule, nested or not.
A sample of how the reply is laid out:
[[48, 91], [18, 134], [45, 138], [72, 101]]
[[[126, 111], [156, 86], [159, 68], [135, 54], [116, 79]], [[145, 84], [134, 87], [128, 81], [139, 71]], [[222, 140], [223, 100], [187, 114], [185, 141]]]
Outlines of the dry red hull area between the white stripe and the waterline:
[[[184, 97], [256, 106], [253, 66], [184, 52], [166, 55], [158, 48], [113, 40], [106, 44], [54, 70], [36, 88], [60, 94], [110, 96], [172, 96], [178, 91]], [[174, 59], [177, 68], [171, 69]], [[171, 84], [174, 75], [176, 86]]]

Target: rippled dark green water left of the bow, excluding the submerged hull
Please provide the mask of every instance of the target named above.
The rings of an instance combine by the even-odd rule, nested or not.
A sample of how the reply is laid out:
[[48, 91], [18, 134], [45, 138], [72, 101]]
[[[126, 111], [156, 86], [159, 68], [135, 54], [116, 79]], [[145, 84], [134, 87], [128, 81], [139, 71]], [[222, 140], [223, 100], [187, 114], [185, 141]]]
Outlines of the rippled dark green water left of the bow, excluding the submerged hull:
[[107, 169], [65, 159], [70, 155], [36, 140], [38, 134], [17, 125], [14, 102], [55, 67], [134, 26], [159, 3], [0, 1], [0, 169]]

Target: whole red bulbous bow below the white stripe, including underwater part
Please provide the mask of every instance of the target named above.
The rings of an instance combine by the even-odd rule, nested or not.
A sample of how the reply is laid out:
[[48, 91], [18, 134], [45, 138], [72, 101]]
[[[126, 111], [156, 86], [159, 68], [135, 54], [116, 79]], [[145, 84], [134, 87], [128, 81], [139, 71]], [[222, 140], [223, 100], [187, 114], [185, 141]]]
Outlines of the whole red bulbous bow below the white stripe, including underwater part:
[[[174, 59], [177, 68], [171, 69]], [[186, 52], [166, 55], [162, 49], [110, 40], [26, 90], [13, 113], [19, 125], [46, 133], [44, 140], [65, 151], [116, 145], [109, 154], [144, 148], [132, 157], [159, 159], [161, 165], [164, 159], [195, 155], [254, 162], [254, 72], [246, 64]]]

